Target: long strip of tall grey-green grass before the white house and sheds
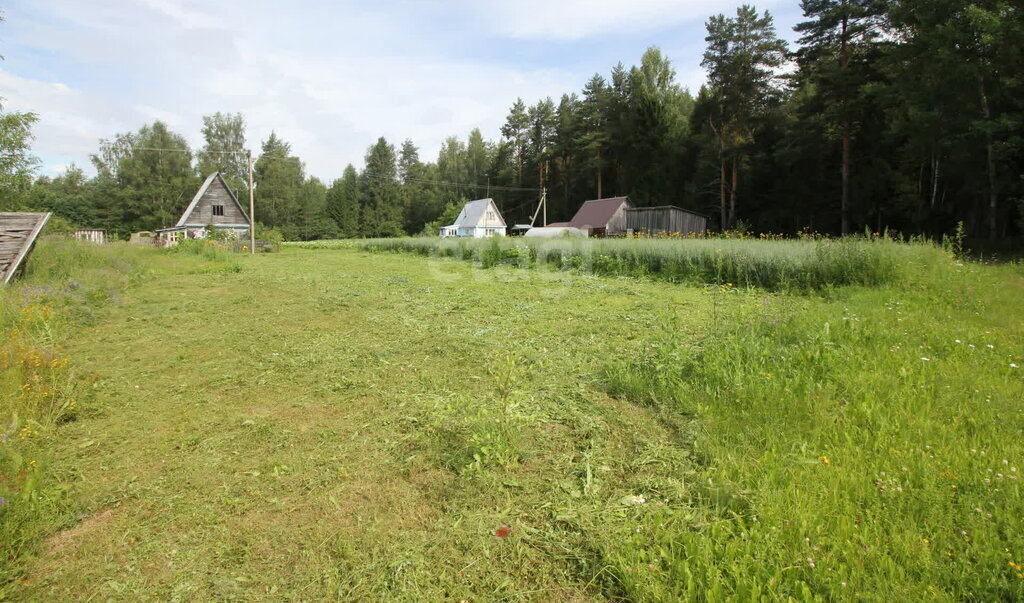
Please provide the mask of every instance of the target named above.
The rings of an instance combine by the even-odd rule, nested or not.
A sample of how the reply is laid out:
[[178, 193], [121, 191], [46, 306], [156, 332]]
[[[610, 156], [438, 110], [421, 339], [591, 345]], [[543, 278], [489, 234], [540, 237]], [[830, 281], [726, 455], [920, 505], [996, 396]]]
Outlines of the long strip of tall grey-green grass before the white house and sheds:
[[475, 261], [483, 267], [544, 267], [773, 291], [901, 283], [941, 270], [950, 263], [950, 254], [931, 243], [856, 238], [816, 241], [423, 238], [369, 240], [359, 245], [369, 251]]

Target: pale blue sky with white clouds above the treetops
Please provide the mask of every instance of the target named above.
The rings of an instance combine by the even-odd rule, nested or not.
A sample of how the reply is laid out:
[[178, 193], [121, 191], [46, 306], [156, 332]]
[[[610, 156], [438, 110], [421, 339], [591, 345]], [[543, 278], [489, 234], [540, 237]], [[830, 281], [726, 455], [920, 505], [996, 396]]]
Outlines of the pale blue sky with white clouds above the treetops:
[[[750, 1], [750, 0], [748, 0]], [[291, 4], [291, 5], [289, 5]], [[91, 173], [101, 138], [162, 120], [194, 149], [202, 118], [241, 113], [248, 145], [276, 132], [325, 181], [384, 136], [433, 161], [509, 106], [578, 92], [649, 46], [696, 92], [705, 21], [734, 0], [8, 0], [0, 97], [39, 115], [42, 175]], [[798, 0], [756, 3], [793, 42]]]

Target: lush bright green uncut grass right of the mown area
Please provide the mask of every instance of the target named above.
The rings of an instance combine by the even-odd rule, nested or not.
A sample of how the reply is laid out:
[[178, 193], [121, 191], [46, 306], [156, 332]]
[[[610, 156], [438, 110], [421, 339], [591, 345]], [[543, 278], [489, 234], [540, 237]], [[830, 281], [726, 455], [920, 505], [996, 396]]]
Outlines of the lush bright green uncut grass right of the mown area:
[[965, 270], [768, 303], [697, 343], [669, 328], [610, 364], [613, 394], [695, 417], [705, 468], [698, 521], [606, 536], [623, 594], [1024, 597], [1021, 281]]

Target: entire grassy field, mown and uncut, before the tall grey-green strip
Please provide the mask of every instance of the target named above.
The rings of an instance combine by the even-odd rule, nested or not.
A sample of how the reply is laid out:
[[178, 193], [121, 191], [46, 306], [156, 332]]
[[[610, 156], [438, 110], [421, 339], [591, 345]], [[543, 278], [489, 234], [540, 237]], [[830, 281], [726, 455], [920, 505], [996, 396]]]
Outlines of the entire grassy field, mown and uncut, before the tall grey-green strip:
[[83, 249], [4, 292], [9, 598], [1024, 597], [1020, 265]]

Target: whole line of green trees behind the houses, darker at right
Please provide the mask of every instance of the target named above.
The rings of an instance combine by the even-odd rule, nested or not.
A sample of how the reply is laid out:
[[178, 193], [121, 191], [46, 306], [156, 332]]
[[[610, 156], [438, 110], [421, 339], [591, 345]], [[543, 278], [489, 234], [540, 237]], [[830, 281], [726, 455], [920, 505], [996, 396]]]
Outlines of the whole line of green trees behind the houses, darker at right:
[[[963, 222], [974, 236], [1019, 236], [1024, 8], [801, 6], [793, 48], [768, 11], [742, 5], [710, 17], [708, 78], [695, 95], [652, 47], [639, 64], [620, 63], [557, 101], [516, 99], [498, 139], [478, 129], [450, 137], [434, 161], [412, 140], [380, 138], [361, 170], [348, 165], [324, 182], [271, 134], [256, 154], [257, 220], [293, 240], [435, 233], [485, 196], [506, 221], [528, 220], [543, 188], [553, 221], [586, 200], [628, 195], [638, 206], [706, 213], [722, 229], [937, 235]], [[25, 118], [0, 115], [0, 144], [13, 149], [5, 158], [26, 157]], [[73, 167], [33, 180], [24, 165], [0, 164], [10, 172], [0, 176], [3, 203], [124, 234], [172, 224], [212, 171], [248, 196], [243, 116], [205, 117], [203, 137], [194, 153], [161, 122], [119, 134], [92, 156], [92, 178]]]

